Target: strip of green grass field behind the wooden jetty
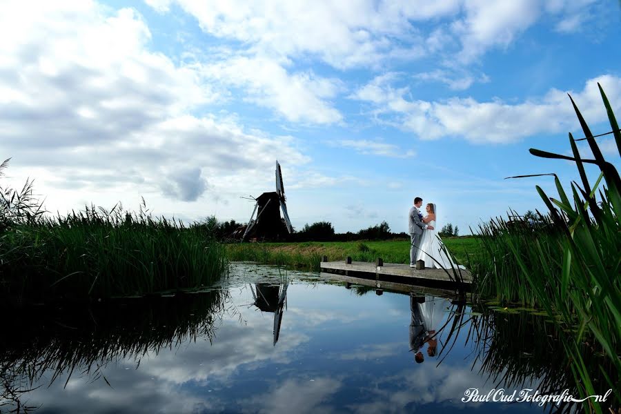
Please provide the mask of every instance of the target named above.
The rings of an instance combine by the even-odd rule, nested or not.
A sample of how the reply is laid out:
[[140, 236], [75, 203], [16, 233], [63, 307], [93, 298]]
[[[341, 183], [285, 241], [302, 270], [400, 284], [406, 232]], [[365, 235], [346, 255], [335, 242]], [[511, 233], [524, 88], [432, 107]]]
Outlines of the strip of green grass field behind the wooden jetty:
[[[443, 239], [458, 262], [468, 265], [467, 255], [480, 251], [475, 237]], [[410, 240], [397, 239], [380, 242], [303, 242], [303, 243], [243, 243], [227, 244], [226, 257], [231, 261], [248, 260], [264, 264], [278, 264], [319, 270], [322, 256], [328, 260], [344, 260], [351, 256], [359, 262], [374, 262], [382, 257], [386, 263], [410, 262]]]

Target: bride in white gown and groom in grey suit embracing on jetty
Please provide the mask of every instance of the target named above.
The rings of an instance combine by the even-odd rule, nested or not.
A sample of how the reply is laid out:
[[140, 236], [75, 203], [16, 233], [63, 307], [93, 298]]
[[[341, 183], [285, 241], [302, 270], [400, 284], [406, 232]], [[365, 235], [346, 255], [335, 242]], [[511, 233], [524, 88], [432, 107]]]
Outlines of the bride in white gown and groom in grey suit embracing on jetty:
[[[457, 268], [453, 259], [449, 257], [446, 248], [435, 230], [435, 204], [428, 203], [425, 207], [426, 215], [420, 213], [422, 198], [414, 199], [414, 206], [408, 214], [408, 231], [410, 233], [410, 267], [416, 267], [416, 262], [425, 262], [425, 268]], [[463, 266], [459, 266], [463, 268]]]

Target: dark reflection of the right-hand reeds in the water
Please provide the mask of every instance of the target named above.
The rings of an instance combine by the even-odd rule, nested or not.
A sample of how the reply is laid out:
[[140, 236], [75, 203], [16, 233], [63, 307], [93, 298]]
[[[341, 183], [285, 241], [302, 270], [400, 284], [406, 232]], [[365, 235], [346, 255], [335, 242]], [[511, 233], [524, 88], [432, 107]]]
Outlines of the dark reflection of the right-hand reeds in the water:
[[[519, 388], [536, 382], [542, 394], [560, 394], [566, 388], [571, 395], [590, 395], [578, 378], [575, 357], [563, 346], [567, 335], [575, 331], [560, 331], [552, 321], [531, 313], [502, 313], [490, 308], [477, 307], [472, 317], [469, 339], [476, 344], [475, 360], [480, 362], [480, 373], [497, 383]], [[606, 376], [621, 384], [620, 373], [601, 354], [593, 353], [585, 342], [581, 349], [582, 365], [591, 377], [595, 394], [605, 394], [610, 386]], [[591, 393], [593, 394], [593, 393]], [[558, 406], [546, 404], [553, 412], [571, 412], [589, 407], [584, 404], [561, 402]], [[603, 411], [620, 407], [620, 401], [611, 396], [601, 404]], [[611, 409], [611, 412], [612, 409]]]

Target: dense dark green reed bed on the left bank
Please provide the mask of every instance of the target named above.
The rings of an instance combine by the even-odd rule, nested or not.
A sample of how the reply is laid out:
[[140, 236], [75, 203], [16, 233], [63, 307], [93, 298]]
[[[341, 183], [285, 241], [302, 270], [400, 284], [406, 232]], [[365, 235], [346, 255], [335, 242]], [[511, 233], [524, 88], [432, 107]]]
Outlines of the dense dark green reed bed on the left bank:
[[[0, 166], [6, 168], [6, 162]], [[27, 183], [28, 184], [28, 183]], [[227, 268], [224, 247], [198, 225], [154, 219], [120, 204], [43, 215], [32, 182], [0, 203], [0, 297], [15, 302], [99, 299], [209, 286]], [[16, 203], [16, 200], [19, 203]]]

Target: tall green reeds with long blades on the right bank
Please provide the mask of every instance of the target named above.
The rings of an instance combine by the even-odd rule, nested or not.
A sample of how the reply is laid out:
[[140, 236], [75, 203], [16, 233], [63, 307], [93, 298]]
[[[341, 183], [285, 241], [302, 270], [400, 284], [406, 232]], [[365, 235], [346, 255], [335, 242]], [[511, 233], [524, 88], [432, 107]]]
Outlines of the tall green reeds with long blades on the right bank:
[[[621, 155], [619, 126], [601, 86], [600, 93]], [[571, 372], [580, 379], [582, 393], [589, 395], [597, 390], [593, 389], [592, 373], [580, 353], [584, 342], [592, 344], [593, 352], [605, 355], [602, 372], [607, 372], [604, 366], [621, 372], [621, 181], [615, 166], [604, 159], [573, 99], [571, 102], [594, 159], [580, 156], [571, 133], [573, 156], [533, 148], [530, 152], [537, 157], [573, 161], [581, 184], [573, 181], [568, 196], [558, 177], [546, 174], [554, 177], [558, 198], [536, 187], [549, 210], [540, 214], [542, 224], [515, 228], [498, 219], [481, 226], [483, 251], [474, 261], [473, 275], [480, 295], [537, 306], [560, 328], [577, 328], [564, 346], [574, 356]], [[593, 185], [584, 164], [600, 169]], [[535, 176], [542, 175], [511, 178]], [[609, 380], [609, 385], [619, 400], [621, 383], [616, 377]]]

